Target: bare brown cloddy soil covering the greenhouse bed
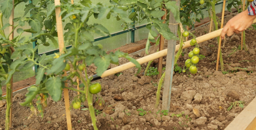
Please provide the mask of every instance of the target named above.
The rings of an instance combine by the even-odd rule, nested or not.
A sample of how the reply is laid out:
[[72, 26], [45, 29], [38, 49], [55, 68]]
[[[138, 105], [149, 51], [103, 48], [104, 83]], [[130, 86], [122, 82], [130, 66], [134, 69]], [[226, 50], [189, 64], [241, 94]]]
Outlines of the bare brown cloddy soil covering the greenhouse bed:
[[[225, 23], [235, 14], [226, 16]], [[195, 36], [201, 36], [209, 31], [209, 25], [192, 31]], [[171, 108], [167, 114], [162, 113], [161, 101], [158, 108], [154, 108], [156, 100], [156, 76], [135, 76], [137, 68], [130, 68], [118, 75], [111, 75], [98, 80], [102, 84], [102, 91], [98, 94], [105, 101], [102, 106], [96, 101], [94, 107], [99, 130], [224, 130], [243, 108], [234, 106], [227, 111], [231, 102], [244, 101], [244, 107], [256, 97], [256, 30], [252, 27], [246, 30], [246, 44], [249, 51], [238, 50], [241, 34], [226, 36], [225, 47], [222, 46], [224, 71], [215, 71], [217, 59], [217, 40], [211, 39], [200, 43], [200, 54], [205, 58], [198, 63], [198, 73], [174, 74]], [[164, 46], [167, 48], [167, 42]], [[191, 51], [194, 47], [187, 49]], [[151, 48], [150, 53], [156, 52], [158, 46]], [[131, 55], [133, 58], [145, 56]], [[184, 66], [187, 54], [178, 60], [178, 66]], [[166, 57], [164, 57], [164, 64]], [[120, 65], [128, 62], [119, 59]], [[142, 65], [146, 68], [147, 63]], [[157, 67], [158, 59], [152, 67]], [[163, 65], [165, 66], [165, 65]], [[110, 68], [115, 67], [111, 65]], [[90, 66], [89, 75], [95, 74], [95, 66]], [[220, 69], [219, 69], [220, 70]], [[70, 86], [76, 87], [76, 86]], [[163, 89], [163, 88], [162, 88]], [[70, 103], [76, 92], [69, 91]], [[161, 91], [162, 94], [162, 91]], [[13, 127], [12, 130], [66, 130], [66, 115], [63, 98], [55, 102], [50, 97], [44, 117], [34, 116], [30, 120], [29, 107], [21, 107], [25, 94], [13, 97]], [[34, 101], [35, 103], [35, 101]], [[84, 103], [84, 107], [88, 108]], [[139, 108], [146, 114], [139, 115]], [[0, 102], [0, 130], [4, 130], [6, 105]], [[93, 130], [88, 110], [71, 109], [72, 130]]]

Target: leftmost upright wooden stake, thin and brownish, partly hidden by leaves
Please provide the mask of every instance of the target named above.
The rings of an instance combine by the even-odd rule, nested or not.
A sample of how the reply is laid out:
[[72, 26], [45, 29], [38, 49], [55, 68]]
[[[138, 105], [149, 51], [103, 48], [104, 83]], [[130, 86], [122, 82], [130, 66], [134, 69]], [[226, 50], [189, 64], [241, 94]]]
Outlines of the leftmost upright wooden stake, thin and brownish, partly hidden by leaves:
[[[13, 19], [14, 19], [14, 0], [13, 0], [13, 10], [12, 10], [11, 16], [9, 18], [10, 25], [14, 25]], [[9, 26], [9, 32], [12, 32], [12, 31], [13, 31], [13, 26]], [[10, 35], [9, 39], [10, 40], [13, 39], [13, 33]], [[13, 51], [11, 51], [11, 53], [13, 53]], [[11, 83], [11, 88], [10, 88], [11, 89], [11, 95], [10, 95], [11, 99], [10, 99], [10, 103], [13, 104], [13, 76], [12, 76], [12, 78], [10, 80], [10, 83]], [[13, 105], [11, 105], [11, 108], [10, 108], [10, 127], [12, 126], [12, 112], [13, 112], [13, 107], [12, 106]]]

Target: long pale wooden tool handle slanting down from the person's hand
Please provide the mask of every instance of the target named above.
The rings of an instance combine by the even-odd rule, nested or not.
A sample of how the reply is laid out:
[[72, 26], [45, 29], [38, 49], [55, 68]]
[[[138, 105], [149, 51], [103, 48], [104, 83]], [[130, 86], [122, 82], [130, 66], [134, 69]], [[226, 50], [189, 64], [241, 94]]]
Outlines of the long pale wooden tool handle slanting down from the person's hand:
[[[256, 19], [253, 21], [253, 23], [256, 23]], [[218, 36], [220, 36], [220, 33], [221, 33], [222, 29], [218, 29], [216, 31], [213, 31], [211, 33], [208, 33], [208, 34], [205, 34], [203, 36], [199, 36], [197, 37], [197, 43], [201, 43], [201, 42], [204, 42], [204, 41], [207, 41], [207, 40], [210, 40], [210, 39], [213, 39], [213, 38], [216, 38]], [[184, 46], [183, 46], [183, 49], [185, 48], [188, 48], [190, 47], [190, 41], [187, 41], [187, 42], [184, 42]], [[175, 52], [177, 52], [180, 48], [180, 45], [176, 45], [175, 47]], [[144, 64], [146, 62], [149, 62], [151, 60], [154, 60], [156, 58], [159, 58], [159, 57], [162, 57], [162, 56], [165, 56], [167, 55], [167, 49], [164, 49], [162, 51], [159, 51], [159, 52], [155, 52], [151, 55], [147, 55], [147, 56], [144, 56], [142, 58], [139, 58], [137, 59], [137, 62], [139, 62], [140, 64]], [[136, 65], [133, 64], [132, 62], [128, 62], [128, 63], [125, 63], [123, 65], [120, 65], [120, 66], [117, 66], [115, 68], [111, 68], [111, 69], [108, 69], [106, 70], [102, 75], [101, 75], [101, 78], [104, 78], [104, 77], [107, 77], [109, 75], [113, 75], [113, 74], [116, 74], [118, 72], [121, 72], [121, 71], [124, 71], [128, 68], [131, 68], [131, 67], [135, 67]], [[97, 77], [98, 78], [98, 77]]]

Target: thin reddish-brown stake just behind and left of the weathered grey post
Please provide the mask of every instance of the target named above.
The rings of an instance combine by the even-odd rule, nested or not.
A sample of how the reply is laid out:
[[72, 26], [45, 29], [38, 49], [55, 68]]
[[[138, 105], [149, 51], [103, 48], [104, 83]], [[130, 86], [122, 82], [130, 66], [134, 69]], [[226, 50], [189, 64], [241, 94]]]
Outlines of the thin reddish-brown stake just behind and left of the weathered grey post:
[[[163, 7], [164, 8], [164, 7]], [[164, 16], [161, 17], [161, 20], [164, 20], [163, 23], [165, 23], [165, 17], [166, 17], [166, 10], [165, 10], [165, 14]], [[160, 35], [160, 42], [159, 42], [159, 51], [164, 49], [164, 37], [162, 35]], [[163, 68], [163, 57], [158, 58], [158, 79], [161, 78], [162, 76], [162, 68]]]

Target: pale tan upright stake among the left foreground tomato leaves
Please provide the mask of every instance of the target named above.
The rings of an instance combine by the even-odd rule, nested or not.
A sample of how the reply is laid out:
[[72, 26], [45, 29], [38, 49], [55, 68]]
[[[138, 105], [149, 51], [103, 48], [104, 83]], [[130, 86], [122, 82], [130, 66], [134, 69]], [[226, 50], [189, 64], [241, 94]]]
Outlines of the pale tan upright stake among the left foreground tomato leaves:
[[[54, 0], [55, 6], [60, 5], [59, 0]], [[58, 32], [58, 40], [59, 40], [59, 54], [61, 55], [63, 52], [64, 46], [64, 39], [63, 39], [63, 30], [62, 30], [62, 18], [59, 15], [61, 10], [60, 7], [56, 7], [55, 9], [56, 12], [56, 25], [57, 25], [57, 32]], [[64, 71], [64, 74], [62, 76], [66, 76], [67, 73]], [[67, 82], [65, 82], [65, 87], [68, 87]], [[64, 101], [65, 101], [65, 108], [66, 108], [66, 120], [67, 120], [67, 127], [68, 130], [72, 130], [72, 124], [71, 124], [71, 115], [70, 115], [70, 110], [69, 110], [69, 91], [68, 89], [64, 88]]]

